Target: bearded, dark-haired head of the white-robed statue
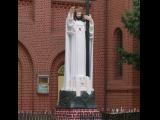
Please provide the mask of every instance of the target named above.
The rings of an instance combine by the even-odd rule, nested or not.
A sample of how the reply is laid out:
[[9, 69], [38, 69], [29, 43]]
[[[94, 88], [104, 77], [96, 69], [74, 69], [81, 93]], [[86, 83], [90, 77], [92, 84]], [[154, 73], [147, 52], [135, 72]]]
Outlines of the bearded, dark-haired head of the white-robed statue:
[[83, 8], [78, 7], [74, 12], [74, 20], [82, 20], [83, 21]]

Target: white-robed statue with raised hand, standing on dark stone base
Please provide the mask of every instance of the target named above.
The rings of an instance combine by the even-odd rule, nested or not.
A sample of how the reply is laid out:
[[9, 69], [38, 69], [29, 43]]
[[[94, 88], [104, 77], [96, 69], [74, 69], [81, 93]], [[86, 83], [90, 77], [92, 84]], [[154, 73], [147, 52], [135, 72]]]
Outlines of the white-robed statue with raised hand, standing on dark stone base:
[[[89, 60], [90, 75], [86, 76], [86, 20], [89, 20]], [[65, 73], [64, 87], [66, 91], [76, 91], [80, 96], [81, 91], [90, 94], [93, 89], [93, 40], [94, 22], [91, 15], [83, 15], [81, 7], [71, 7], [66, 19], [65, 32]]]

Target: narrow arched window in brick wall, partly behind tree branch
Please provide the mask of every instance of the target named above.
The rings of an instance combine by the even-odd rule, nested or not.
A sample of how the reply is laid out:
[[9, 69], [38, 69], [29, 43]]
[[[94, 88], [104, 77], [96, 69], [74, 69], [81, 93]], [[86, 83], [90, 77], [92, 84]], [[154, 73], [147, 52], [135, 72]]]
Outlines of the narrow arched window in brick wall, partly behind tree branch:
[[123, 47], [123, 33], [120, 28], [117, 28], [114, 32], [115, 38], [115, 79], [121, 79], [123, 68], [122, 65], [119, 64], [121, 60], [121, 55], [117, 52], [117, 48]]

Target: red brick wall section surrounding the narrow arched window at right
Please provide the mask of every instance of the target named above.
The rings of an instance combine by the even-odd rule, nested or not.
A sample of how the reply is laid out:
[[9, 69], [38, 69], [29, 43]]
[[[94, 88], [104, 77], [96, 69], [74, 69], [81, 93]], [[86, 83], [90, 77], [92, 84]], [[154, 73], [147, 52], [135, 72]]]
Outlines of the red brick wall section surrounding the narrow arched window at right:
[[[123, 65], [121, 79], [116, 79], [115, 75], [115, 39], [114, 31], [117, 28], [122, 30], [123, 47], [128, 52], [133, 52], [133, 38], [121, 22], [121, 15], [126, 10], [131, 10], [131, 0], [107, 0], [107, 42], [106, 42], [106, 107], [138, 107], [139, 85], [137, 84], [138, 72], [131, 65]], [[135, 82], [136, 81], [136, 82]], [[138, 95], [138, 96], [137, 96]]]

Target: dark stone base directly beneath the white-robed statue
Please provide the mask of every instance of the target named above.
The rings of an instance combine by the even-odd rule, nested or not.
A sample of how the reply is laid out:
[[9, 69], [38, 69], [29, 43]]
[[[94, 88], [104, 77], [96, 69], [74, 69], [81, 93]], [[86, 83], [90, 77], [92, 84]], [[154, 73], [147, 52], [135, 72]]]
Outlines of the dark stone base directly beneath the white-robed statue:
[[58, 108], [96, 108], [95, 92], [81, 91], [76, 96], [76, 91], [60, 91]]

